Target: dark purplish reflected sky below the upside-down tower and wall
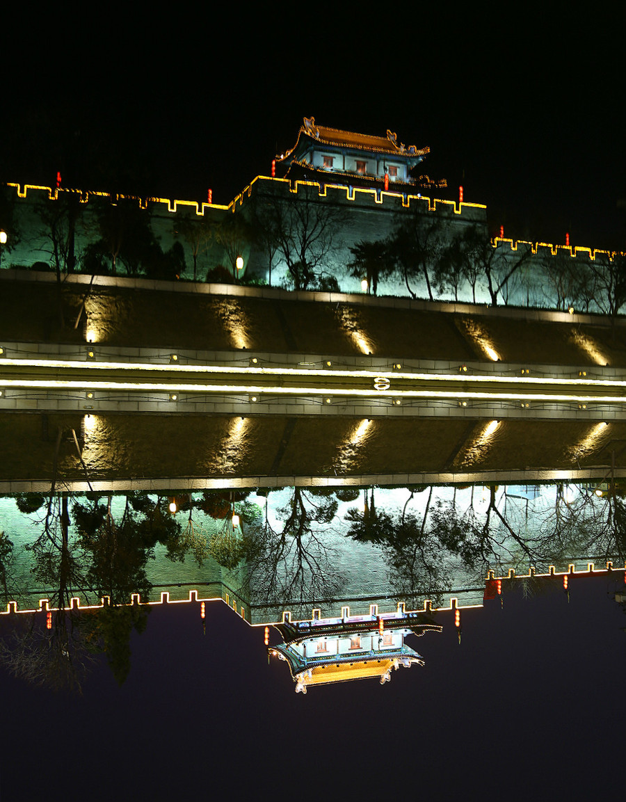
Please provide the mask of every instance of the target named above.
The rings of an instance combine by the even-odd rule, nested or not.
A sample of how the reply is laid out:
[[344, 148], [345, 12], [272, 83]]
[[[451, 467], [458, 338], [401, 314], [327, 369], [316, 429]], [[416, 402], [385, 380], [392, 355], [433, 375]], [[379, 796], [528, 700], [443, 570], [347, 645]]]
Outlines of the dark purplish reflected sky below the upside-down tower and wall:
[[623, 795], [626, 619], [603, 578], [463, 613], [426, 666], [295, 694], [263, 630], [208, 606], [157, 608], [119, 689], [83, 697], [0, 676], [0, 799], [600, 800]]

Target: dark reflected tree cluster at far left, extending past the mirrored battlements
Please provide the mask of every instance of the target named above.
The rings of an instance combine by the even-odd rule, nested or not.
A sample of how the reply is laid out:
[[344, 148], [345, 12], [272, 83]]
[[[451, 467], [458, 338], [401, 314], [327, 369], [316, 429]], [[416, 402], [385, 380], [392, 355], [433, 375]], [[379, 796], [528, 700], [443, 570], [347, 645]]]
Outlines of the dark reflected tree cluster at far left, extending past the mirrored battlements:
[[[67, 493], [50, 492], [47, 500], [17, 501], [30, 512], [36, 506], [43, 510], [38, 537], [26, 549], [33, 554], [35, 581], [46, 588], [50, 608], [57, 609], [45, 631], [34, 618], [25, 623], [18, 617], [0, 646], [0, 661], [28, 681], [79, 690], [93, 654], [103, 652], [123, 683], [130, 670], [131, 632], [142, 632], [147, 622], [149, 608], [128, 606], [133, 593], [150, 597], [147, 560], [157, 542], [168, 547], [171, 559], [184, 558], [180, 525], [167, 512], [167, 500], [129, 494], [115, 514], [111, 496], [71, 500]], [[79, 611], [71, 606], [75, 596], [107, 601], [100, 610]]]

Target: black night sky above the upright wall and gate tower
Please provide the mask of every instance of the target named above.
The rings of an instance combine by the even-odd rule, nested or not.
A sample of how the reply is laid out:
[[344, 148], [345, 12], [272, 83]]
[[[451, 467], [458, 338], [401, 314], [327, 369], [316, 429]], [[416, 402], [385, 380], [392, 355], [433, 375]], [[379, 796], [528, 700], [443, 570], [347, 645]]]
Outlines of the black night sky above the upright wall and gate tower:
[[425, 171], [511, 236], [624, 248], [626, 14], [550, 8], [237, 7], [107, 18], [67, 47], [52, 21], [6, 48], [0, 177], [228, 203], [313, 115], [430, 146]]

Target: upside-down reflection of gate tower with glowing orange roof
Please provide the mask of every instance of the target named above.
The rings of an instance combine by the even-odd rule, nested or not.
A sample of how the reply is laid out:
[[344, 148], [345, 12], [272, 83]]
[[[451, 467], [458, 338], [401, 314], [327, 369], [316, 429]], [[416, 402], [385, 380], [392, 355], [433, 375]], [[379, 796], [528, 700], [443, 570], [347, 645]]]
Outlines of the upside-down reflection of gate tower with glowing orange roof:
[[421, 655], [406, 646], [406, 635], [442, 631], [423, 613], [406, 613], [403, 604], [381, 615], [376, 605], [370, 606], [370, 615], [351, 616], [349, 607], [343, 607], [341, 618], [320, 618], [320, 611], [313, 610], [311, 621], [300, 622], [292, 622], [291, 614], [285, 613], [282, 623], [274, 626], [284, 643], [270, 646], [269, 654], [288, 662], [296, 693], [306, 693], [309, 685], [350, 679], [378, 677], [381, 684], [389, 682], [392, 669], [424, 665]]

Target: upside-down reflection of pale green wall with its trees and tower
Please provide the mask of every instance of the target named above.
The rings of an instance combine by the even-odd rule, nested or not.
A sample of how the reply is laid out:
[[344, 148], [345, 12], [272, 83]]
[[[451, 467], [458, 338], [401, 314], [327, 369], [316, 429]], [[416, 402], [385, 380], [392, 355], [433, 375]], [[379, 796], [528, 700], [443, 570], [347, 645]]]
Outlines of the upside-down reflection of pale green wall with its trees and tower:
[[[3, 496], [0, 531], [0, 657], [13, 674], [79, 689], [105, 654], [121, 684], [131, 633], [144, 630], [153, 604], [222, 600], [288, 636], [270, 649], [280, 646], [305, 690], [312, 650], [318, 667], [328, 657], [334, 679], [348, 678], [346, 661], [355, 678], [388, 678], [390, 667], [422, 659], [402, 651], [406, 634], [456, 625], [460, 637], [464, 607], [515, 585], [567, 589], [563, 572], [619, 569], [626, 502], [614, 482], [168, 495], [53, 488]], [[384, 641], [390, 623], [397, 643]], [[322, 630], [311, 640], [300, 626]], [[324, 646], [331, 634], [334, 651]], [[362, 646], [350, 646], [357, 635]]]

